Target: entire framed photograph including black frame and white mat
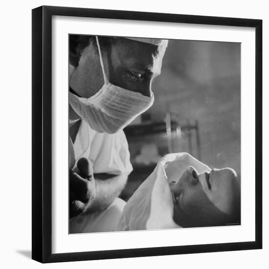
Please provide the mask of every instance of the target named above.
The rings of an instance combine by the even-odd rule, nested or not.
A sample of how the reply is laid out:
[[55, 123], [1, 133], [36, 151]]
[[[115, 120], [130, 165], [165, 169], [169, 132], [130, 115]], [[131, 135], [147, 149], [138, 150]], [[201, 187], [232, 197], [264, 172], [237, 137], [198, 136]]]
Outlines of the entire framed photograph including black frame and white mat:
[[262, 20], [32, 15], [32, 258], [261, 249]]

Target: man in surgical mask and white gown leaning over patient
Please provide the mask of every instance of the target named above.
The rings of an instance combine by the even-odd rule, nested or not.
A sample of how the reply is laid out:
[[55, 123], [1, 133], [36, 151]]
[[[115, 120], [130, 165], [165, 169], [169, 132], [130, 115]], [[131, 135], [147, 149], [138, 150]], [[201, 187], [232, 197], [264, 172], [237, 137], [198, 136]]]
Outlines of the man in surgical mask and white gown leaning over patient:
[[133, 169], [122, 129], [152, 106], [167, 40], [69, 41], [69, 232], [112, 231]]

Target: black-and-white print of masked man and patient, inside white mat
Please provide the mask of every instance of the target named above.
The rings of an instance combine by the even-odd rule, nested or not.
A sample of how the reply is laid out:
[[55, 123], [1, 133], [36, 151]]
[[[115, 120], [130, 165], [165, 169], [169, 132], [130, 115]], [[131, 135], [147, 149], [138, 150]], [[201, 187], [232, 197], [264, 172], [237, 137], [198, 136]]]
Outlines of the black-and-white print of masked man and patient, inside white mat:
[[69, 234], [241, 224], [241, 44], [69, 34]]

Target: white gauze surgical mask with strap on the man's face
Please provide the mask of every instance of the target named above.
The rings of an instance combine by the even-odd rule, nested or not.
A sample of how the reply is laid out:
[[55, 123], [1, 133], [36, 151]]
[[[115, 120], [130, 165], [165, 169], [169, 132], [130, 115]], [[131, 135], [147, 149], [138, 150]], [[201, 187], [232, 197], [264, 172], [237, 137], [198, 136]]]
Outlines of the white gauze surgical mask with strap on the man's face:
[[96, 42], [104, 76], [104, 85], [90, 98], [78, 97], [69, 92], [72, 109], [98, 133], [114, 134], [126, 127], [139, 114], [148, 110], [154, 102], [151, 96], [126, 90], [111, 84], [106, 76], [98, 37]]

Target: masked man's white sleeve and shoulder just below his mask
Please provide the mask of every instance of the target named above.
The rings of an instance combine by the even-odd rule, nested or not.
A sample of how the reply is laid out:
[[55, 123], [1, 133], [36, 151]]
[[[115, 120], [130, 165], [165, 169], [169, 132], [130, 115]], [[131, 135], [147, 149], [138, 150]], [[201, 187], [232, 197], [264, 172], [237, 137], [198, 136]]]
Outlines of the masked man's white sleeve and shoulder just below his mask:
[[[76, 122], [77, 120], [70, 120], [69, 128]], [[76, 170], [77, 161], [81, 157], [92, 161], [95, 174], [120, 175], [133, 171], [124, 132], [121, 130], [116, 134], [99, 134], [84, 120], [81, 120], [74, 144], [69, 137], [69, 169]]]

